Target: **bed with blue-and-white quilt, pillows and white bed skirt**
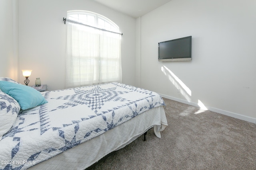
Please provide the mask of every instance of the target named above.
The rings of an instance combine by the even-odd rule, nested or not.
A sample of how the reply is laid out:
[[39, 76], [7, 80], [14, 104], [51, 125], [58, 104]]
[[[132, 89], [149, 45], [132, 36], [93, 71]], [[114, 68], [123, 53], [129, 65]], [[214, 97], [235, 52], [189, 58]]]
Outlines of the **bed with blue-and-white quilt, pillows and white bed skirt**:
[[168, 125], [160, 95], [126, 84], [38, 92], [0, 78], [0, 90], [1, 170], [84, 170]]

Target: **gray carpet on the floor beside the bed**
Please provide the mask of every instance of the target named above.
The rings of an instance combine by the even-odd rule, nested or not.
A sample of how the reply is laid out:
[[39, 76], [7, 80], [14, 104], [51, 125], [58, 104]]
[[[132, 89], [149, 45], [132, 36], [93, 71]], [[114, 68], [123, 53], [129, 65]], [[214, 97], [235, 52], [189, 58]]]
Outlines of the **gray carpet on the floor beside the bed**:
[[[153, 129], [95, 170], [256, 170], [256, 124], [165, 99], [168, 127]], [[200, 113], [202, 112], [202, 113]]]

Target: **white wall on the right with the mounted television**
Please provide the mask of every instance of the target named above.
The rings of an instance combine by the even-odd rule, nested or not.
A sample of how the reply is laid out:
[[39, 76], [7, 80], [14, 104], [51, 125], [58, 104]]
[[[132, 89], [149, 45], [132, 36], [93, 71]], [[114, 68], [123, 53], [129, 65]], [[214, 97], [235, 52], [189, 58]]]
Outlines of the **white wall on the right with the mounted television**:
[[[255, 123], [255, 9], [255, 0], [172, 0], [136, 19], [141, 87]], [[158, 42], [190, 35], [192, 61], [158, 62]]]

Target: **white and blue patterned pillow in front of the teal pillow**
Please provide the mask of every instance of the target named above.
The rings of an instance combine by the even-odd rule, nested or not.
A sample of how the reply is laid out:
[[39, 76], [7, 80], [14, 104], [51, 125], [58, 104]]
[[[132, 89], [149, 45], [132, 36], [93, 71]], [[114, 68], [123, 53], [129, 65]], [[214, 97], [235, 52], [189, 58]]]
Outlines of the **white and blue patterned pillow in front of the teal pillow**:
[[2, 135], [8, 132], [15, 123], [20, 105], [8, 94], [0, 91], [0, 140]]

